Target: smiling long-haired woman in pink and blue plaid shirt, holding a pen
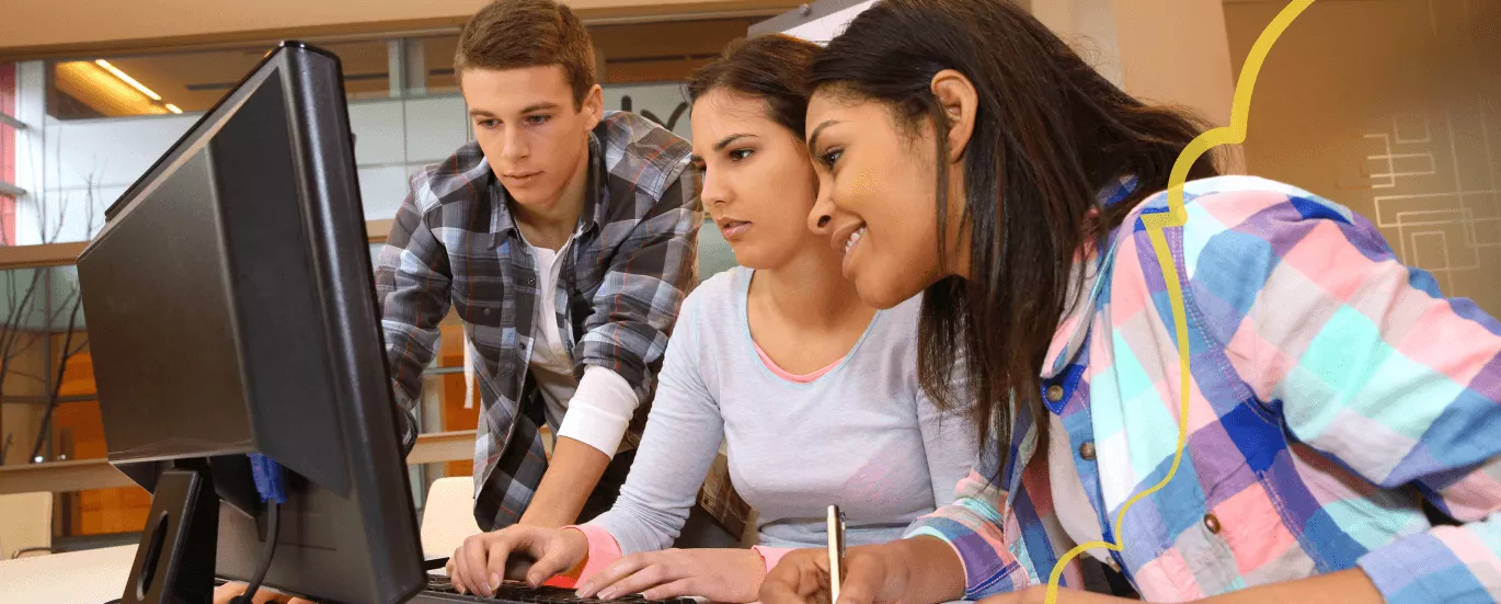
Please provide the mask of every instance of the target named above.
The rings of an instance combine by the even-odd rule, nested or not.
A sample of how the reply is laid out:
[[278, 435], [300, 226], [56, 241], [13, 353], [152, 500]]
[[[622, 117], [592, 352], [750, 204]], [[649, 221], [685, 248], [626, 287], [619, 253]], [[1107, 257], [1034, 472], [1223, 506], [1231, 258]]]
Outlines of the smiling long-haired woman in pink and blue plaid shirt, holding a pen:
[[[814, 222], [866, 302], [925, 293], [923, 383], [959, 398], [967, 353], [989, 428], [953, 505], [850, 550], [836, 604], [1042, 602], [1097, 541], [1060, 602], [1501, 596], [1501, 325], [1370, 222], [1201, 159], [1163, 230], [1178, 334], [1142, 216], [1192, 122], [1004, 0], [883, 0], [811, 80]], [[761, 596], [827, 601], [826, 568], [790, 554]]]

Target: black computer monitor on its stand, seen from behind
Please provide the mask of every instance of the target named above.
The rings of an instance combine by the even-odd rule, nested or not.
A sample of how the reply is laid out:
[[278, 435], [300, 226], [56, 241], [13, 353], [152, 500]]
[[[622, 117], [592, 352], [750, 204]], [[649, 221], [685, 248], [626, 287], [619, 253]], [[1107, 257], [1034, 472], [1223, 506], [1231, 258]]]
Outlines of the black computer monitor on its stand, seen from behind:
[[[287, 42], [105, 213], [78, 257], [110, 461], [153, 491], [122, 601], [249, 580], [396, 602], [423, 584], [339, 60]], [[221, 502], [227, 505], [221, 505]]]

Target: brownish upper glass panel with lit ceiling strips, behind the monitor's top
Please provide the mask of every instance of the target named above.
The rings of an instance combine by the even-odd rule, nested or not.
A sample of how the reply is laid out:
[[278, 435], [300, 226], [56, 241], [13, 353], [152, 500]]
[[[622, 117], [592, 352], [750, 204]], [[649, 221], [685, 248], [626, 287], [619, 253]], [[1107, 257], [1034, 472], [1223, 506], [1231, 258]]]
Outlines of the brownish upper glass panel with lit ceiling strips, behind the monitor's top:
[[[390, 96], [386, 41], [320, 47], [338, 54], [344, 63], [344, 87], [350, 99]], [[272, 45], [264, 45], [54, 63], [48, 113], [71, 120], [206, 111], [234, 89], [270, 48]]]

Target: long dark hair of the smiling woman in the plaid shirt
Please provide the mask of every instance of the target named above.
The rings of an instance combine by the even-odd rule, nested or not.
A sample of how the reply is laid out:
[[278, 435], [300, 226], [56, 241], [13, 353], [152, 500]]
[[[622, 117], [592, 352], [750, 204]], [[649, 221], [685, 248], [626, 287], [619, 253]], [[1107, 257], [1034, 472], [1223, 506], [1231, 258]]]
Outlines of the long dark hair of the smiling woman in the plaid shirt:
[[[1004, 466], [1012, 397], [1046, 446], [1039, 373], [1073, 302], [1075, 252], [1166, 188], [1174, 161], [1202, 123], [1121, 92], [1009, 0], [881, 0], [820, 53], [809, 86], [883, 102], [908, 132], [923, 120], [934, 125], [938, 233], [950, 219], [949, 143], [931, 84], [944, 69], [964, 74], [979, 93], [959, 216], [971, 236], [970, 276], [925, 291], [919, 377], [940, 406], [961, 397], [973, 403], [980, 443], [998, 446]], [[1135, 192], [1100, 209], [1096, 194], [1127, 174], [1138, 179]], [[1207, 156], [1189, 173], [1214, 174]], [[940, 261], [944, 248], [940, 240]], [[967, 392], [953, 392], [961, 364]]]

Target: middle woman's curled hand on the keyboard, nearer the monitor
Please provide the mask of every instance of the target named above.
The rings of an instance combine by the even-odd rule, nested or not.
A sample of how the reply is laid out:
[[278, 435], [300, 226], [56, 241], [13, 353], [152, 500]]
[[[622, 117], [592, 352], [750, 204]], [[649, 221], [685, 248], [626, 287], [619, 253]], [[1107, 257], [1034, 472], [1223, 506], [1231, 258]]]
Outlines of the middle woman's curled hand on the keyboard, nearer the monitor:
[[[516, 560], [510, 560], [512, 556]], [[464, 539], [449, 557], [447, 571], [459, 593], [488, 596], [504, 578], [525, 580], [537, 587], [552, 575], [572, 571], [585, 557], [588, 539], [579, 530], [513, 524]]]

